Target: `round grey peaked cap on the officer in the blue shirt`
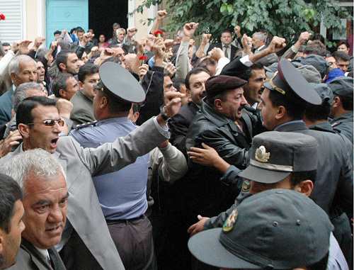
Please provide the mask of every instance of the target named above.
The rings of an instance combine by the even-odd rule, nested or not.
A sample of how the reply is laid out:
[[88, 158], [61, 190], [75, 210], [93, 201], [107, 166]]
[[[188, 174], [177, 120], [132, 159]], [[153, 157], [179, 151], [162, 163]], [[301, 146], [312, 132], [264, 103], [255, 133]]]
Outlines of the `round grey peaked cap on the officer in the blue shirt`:
[[120, 64], [106, 62], [102, 64], [98, 73], [100, 81], [95, 87], [101, 91], [109, 91], [123, 101], [140, 103], [145, 100], [145, 91], [137, 79]]

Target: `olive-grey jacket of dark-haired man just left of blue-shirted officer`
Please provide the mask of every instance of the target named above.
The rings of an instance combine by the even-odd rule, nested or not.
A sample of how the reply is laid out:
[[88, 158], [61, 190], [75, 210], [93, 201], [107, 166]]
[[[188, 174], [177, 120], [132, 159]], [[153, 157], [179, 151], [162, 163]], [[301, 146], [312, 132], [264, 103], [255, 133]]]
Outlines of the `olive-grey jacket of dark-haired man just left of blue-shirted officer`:
[[70, 119], [72, 119], [74, 125], [96, 120], [93, 116], [93, 101], [85, 96], [81, 90], [74, 94], [70, 102], [74, 105], [70, 114]]

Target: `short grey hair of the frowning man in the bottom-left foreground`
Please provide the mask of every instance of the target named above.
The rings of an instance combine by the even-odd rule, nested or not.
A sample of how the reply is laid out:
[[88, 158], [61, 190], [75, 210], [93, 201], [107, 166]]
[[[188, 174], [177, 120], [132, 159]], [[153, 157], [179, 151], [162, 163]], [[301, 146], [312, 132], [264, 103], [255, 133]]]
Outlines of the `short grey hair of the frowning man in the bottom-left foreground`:
[[23, 187], [30, 174], [42, 181], [54, 180], [60, 172], [67, 178], [57, 157], [40, 148], [17, 154], [1, 165], [0, 172], [11, 176], [21, 186], [24, 194], [26, 191]]

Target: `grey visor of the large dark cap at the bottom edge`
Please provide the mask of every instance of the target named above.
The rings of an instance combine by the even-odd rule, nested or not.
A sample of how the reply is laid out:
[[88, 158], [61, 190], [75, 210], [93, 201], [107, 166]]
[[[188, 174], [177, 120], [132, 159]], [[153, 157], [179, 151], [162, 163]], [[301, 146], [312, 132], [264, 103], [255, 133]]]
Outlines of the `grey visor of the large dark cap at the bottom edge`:
[[222, 228], [215, 228], [199, 232], [188, 241], [188, 248], [195, 258], [205, 264], [229, 269], [262, 269], [261, 266], [251, 264], [225, 249], [219, 242]]

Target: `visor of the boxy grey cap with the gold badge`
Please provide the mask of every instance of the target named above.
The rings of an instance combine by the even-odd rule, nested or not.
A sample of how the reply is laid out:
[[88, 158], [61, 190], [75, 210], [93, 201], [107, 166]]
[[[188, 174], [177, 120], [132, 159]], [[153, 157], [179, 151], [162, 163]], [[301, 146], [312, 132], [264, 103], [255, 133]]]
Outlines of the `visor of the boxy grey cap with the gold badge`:
[[289, 171], [270, 171], [268, 169], [261, 169], [253, 165], [249, 165], [244, 171], [239, 173], [239, 176], [251, 181], [256, 181], [264, 184], [278, 183], [289, 176]]

